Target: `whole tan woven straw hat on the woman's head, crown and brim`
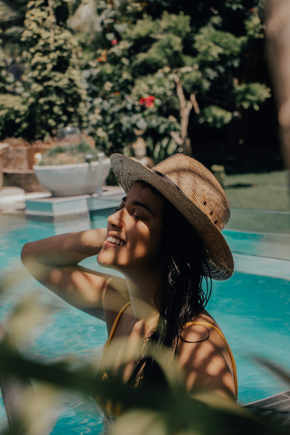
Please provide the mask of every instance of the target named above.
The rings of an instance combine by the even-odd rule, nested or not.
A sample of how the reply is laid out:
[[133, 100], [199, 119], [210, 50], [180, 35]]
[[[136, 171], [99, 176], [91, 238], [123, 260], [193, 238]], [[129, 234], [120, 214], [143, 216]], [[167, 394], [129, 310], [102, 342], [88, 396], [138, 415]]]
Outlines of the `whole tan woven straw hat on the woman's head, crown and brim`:
[[[230, 218], [230, 204], [220, 183], [203, 164], [183, 154], [174, 154], [152, 169], [122, 154], [112, 154], [110, 161], [126, 193], [142, 180], [166, 197], [203, 240], [211, 278], [230, 278], [233, 256], [221, 234]], [[207, 268], [204, 272], [209, 275]]]

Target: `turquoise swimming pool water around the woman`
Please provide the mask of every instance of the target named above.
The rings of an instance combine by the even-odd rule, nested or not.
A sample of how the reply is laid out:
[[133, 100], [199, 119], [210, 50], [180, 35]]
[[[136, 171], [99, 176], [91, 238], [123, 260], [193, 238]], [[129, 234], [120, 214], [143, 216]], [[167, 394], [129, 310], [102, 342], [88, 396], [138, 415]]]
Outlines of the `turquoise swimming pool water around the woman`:
[[[34, 281], [20, 262], [20, 251], [27, 241], [103, 227], [107, 214], [108, 211], [99, 213], [94, 221], [85, 219], [56, 225], [1, 217], [0, 269], [5, 275], [19, 272], [21, 281], [2, 295], [0, 321], [5, 325], [13, 306], [33, 289], [40, 289], [41, 302], [54, 307], [43, 325], [34, 328], [21, 345], [20, 351], [25, 355], [40, 361], [58, 361], [74, 355], [87, 361], [97, 361], [100, 357], [107, 338], [103, 322], [70, 307]], [[230, 280], [213, 281], [208, 310], [223, 329], [232, 348], [237, 362], [239, 400], [247, 403], [289, 388], [266, 368], [255, 363], [254, 357], [268, 358], [290, 370], [290, 281], [287, 275], [290, 263], [286, 251], [282, 260], [277, 259], [277, 255], [273, 255], [275, 260], [263, 258], [271, 256], [270, 251], [265, 250], [265, 246], [271, 246], [268, 236], [237, 231], [225, 231], [224, 234], [234, 251], [237, 268]], [[282, 242], [284, 246], [283, 236]], [[258, 261], [256, 269], [255, 261]], [[83, 264], [100, 268], [95, 258], [89, 258]], [[272, 269], [268, 264], [272, 265]], [[272, 276], [269, 276], [271, 273]], [[102, 432], [102, 418], [90, 398], [63, 392], [57, 403], [57, 413], [57, 423], [50, 432], [52, 435]], [[5, 422], [2, 403], [0, 430]]]

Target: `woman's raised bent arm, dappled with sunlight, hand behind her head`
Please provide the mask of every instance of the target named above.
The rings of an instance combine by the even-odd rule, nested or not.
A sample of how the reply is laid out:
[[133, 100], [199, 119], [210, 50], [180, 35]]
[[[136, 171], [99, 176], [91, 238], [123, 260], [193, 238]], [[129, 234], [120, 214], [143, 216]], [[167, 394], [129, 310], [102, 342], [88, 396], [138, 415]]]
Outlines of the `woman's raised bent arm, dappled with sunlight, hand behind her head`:
[[123, 278], [92, 271], [78, 263], [97, 255], [106, 239], [106, 228], [60, 234], [26, 243], [21, 260], [37, 281], [70, 305], [103, 319], [105, 291], [110, 291], [114, 305], [115, 298], [126, 295], [126, 282]]

